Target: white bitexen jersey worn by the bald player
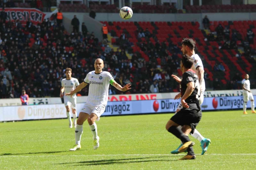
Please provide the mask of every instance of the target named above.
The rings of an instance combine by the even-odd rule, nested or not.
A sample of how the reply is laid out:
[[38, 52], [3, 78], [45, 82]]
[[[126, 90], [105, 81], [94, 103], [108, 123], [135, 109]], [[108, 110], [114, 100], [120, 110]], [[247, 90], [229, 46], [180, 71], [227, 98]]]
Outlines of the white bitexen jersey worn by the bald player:
[[110, 80], [114, 80], [111, 74], [107, 71], [102, 71], [97, 74], [95, 71], [89, 72], [84, 82], [90, 84], [87, 103], [90, 104], [107, 104], [108, 88]]

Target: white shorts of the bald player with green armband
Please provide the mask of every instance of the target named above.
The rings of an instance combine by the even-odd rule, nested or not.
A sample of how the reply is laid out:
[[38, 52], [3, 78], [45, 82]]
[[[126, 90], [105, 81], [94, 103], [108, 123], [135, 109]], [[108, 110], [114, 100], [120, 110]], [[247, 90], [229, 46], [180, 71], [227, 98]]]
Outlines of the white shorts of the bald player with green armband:
[[99, 118], [101, 114], [104, 113], [105, 109], [106, 109], [106, 104], [96, 105], [96, 104], [86, 103], [84, 104], [80, 112], [88, 113], [89, 115], [94, 113]]

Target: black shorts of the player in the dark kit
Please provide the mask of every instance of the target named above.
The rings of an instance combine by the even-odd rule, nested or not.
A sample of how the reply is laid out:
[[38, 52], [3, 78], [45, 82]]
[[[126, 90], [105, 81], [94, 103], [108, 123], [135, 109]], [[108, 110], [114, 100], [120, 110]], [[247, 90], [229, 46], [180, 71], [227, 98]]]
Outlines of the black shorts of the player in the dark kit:
[[170, 119], [180, 126], [188, 125], [191, 127], [191, 132], [194, 133], [195, 127], [198, 125], [202, 117], [202, 111], [197, 109], [181, 109], [179, 112], [174, 114]]

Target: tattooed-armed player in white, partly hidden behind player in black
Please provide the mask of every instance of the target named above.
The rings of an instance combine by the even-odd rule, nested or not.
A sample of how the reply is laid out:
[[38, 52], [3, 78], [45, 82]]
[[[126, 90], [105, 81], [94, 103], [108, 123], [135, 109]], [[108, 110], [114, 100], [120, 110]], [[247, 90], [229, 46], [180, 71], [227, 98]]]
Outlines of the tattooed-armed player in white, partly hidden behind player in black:
[[[200, 98], [199, 98], [199, 104], [202, 105], [203, 103], [203, 92], [205, 91], [205, 83], [204, 83], [204, 70], [203, 70], [203, 63], [202, 63], [202, 60], [200, 59], [200, 57], [198, 56], [198, 54], [195, 54], [195, 51], [194, 51], [194, 48], [195, 48], [195, 41], [193, 39], [190, 39], [190, 38], [184, 38], [182, 40], [182, 48], [181, 48], [181, 51], [183, 54], [187, 54], [188, 56], [190, 56], [191, 58], [193, 58], [194, 60], [194, 64], [192, 66], [192, 70], [194, 70], [196, 72], [196, 74], [198, 75], [198, 81], [200, 83], [200, 91], [201, 91], [201, 95], [200, 95]], [[174, 78], [174, 80], [176, 80], [177, 82], [181, 82], [181, 79], [175, 75], [172, 75], [172, 77]], [[175, 96], [175, 99], [179, 99], [180, 98], [180, 93]], [[175, 114], [177, 112], [179, 112], [181, 109], [182, 109], [182, 104], [180, 103], [179, 106], [177, 107], [177, 110], [175, 112]], [[201, 147], [202, 147], [202, 155], [207, 152], [207, 149], [211, 143], [211, 140], [210, 139], [206, 139], [204, 138], [196, 129], [194, 130], [194, 133], [191, 134], [191, 136], [193, 136], [194, 138], [196, 138], [197, 140], [200, 141], [201, 143]], [[182, 144], [174, 151], [172, 151], [171, 153], [173, 154], [177, 154], [179, 148], [182, 146]]]

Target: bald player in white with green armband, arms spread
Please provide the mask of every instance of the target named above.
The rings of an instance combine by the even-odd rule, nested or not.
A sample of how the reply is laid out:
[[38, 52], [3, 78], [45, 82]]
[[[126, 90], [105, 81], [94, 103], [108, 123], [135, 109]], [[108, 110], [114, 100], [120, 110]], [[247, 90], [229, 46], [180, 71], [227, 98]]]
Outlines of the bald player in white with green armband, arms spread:
[[65, 96], [73, 96], [76, 92], [83, 89], [87, 84], [90, 84], [86, 104], [84, 104], [84, 107], [81, 109], [77, 119], [75, 129], [75, 145], [70, 149], [70, 151], [81, 149], [80, 141], [83, 133], [83, 123], [86, 120], [88, 121], [93, 135], [93, 149], [95, 150], [99, 148], [100, 138], [98, 136], [95, 120], [99, 120], [101, 114], [105, 111], [108, 102], [109, 84], [120, 91], [127, 91], [131, 89], [130, 84], [126, 84], [124, 87], [118, 84], [109, 72], [102, 71], [103, 67], [103, 60], [96, 59], [94, 62], [95, 71], [89, 72], [86, 75], [84, 82], [82, 82], [75, 90], [65, 94]]

